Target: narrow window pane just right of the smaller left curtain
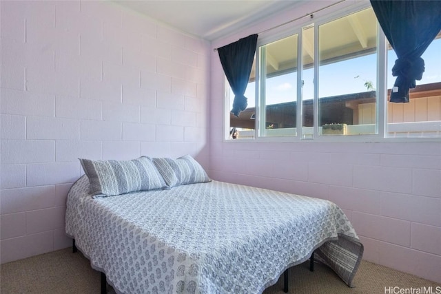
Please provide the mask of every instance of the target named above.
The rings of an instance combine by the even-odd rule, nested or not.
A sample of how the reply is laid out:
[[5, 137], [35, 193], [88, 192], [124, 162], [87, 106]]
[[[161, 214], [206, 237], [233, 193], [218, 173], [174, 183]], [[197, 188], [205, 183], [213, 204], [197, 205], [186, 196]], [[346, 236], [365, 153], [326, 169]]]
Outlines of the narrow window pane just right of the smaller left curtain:
[[260, 46], [260, 136], [296, 136], [297, 42]]

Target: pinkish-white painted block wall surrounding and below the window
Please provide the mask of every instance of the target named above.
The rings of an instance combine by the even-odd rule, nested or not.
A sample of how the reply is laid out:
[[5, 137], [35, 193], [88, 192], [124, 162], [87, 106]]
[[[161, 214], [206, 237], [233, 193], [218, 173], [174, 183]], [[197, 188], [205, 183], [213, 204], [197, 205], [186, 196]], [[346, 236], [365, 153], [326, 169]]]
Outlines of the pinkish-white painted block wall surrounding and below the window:
[[[346, 1], [320, 13], [353, 3]], [[329, 1], [310, 1], [302, 8], [218, 39], [212, 47], [264, 32], [327, 5]], [[441, 282], [439, 141], [224, 142], [224, 78], [216, 52], [211, 70], [212, 178], [334, 201], [347, 213], [365, 245], [365, 260]]]

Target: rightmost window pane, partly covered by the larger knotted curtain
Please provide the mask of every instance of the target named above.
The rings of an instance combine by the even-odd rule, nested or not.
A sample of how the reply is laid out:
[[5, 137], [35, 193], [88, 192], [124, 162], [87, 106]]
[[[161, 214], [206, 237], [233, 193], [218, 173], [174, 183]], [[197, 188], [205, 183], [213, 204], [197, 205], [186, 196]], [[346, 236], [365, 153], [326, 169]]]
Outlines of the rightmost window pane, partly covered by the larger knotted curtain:
[[[387, 103], [387, 136], [441, 136], [441, 32], [422, 54], [425, 70], [416, 88], [410, 91], [409, 103]], [[392, 67], [397, 59], [389, 45], [387, 54], [388, 101], [396, 77]]]

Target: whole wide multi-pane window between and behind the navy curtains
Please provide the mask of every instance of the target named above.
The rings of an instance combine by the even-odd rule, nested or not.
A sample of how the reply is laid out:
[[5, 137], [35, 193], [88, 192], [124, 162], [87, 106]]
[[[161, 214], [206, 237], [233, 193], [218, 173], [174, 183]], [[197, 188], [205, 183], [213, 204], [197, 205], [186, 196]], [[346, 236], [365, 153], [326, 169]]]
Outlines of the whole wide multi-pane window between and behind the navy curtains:
[[229, 127], [258, 140], [439, 138], [440, 51], [441, 32], [422, 56], [426, 71], [411, 102], [389, 103], [396, 55], [371, 7], [259, 36], [248, 108]]

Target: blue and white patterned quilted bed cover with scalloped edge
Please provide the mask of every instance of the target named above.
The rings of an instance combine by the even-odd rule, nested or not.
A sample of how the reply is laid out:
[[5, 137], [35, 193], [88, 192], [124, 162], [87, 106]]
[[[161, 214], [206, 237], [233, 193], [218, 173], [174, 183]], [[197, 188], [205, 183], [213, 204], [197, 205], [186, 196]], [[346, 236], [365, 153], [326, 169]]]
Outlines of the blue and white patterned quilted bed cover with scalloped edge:
[[68, 194], [66, 233], [117, 293], [262, 293], [316, 250], [349, 286], [363, 246], [327, 200], [227, 182]]

